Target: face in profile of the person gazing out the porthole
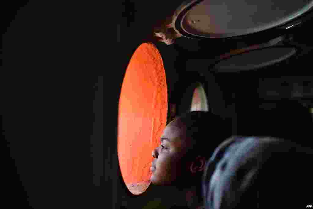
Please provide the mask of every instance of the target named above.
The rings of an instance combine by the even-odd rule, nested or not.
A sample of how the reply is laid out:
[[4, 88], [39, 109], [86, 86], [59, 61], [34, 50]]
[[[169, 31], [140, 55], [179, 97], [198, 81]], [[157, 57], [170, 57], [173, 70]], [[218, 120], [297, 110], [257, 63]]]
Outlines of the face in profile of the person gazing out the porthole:
[[186, 140], [183, 136], [183, 125], [176, 119], [164, 129], [161, 145], [152, 151], [151, 183], [155, 185], [175, 185], [186, 173]]

